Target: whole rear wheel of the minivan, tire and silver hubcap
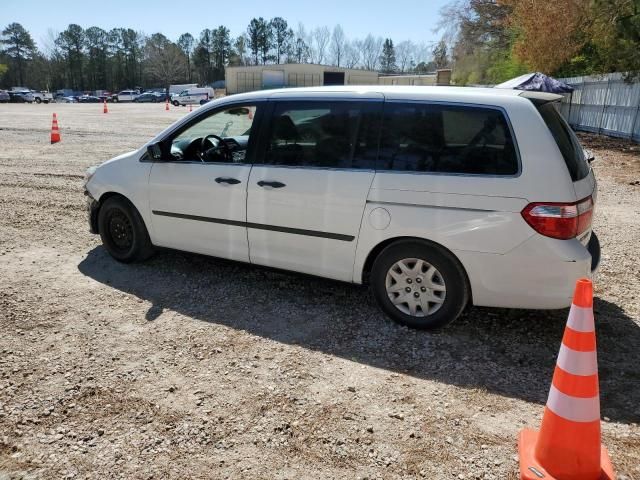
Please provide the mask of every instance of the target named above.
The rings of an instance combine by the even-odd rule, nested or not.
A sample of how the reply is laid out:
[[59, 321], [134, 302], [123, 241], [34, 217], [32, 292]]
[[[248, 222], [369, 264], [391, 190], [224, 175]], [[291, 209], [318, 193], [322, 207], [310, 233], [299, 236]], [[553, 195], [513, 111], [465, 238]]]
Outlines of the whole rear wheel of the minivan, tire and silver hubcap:
[[386, 247], [371, 270], [371, 291], [392, 320], [432, 330], [454, 321], [469, 300], [467, 277], [444, 249], [413, 240]]

